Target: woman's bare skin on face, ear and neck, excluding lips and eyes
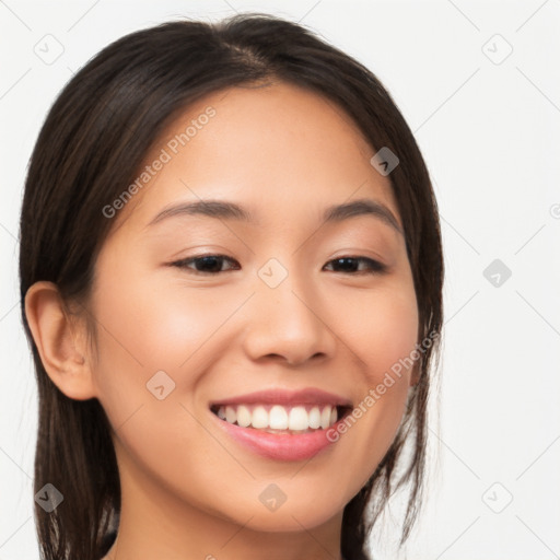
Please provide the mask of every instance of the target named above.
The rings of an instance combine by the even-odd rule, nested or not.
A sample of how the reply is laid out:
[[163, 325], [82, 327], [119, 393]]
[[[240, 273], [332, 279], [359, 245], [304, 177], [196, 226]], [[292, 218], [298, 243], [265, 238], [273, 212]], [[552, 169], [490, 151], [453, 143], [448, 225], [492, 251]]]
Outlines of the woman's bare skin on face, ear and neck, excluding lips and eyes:
[[[71, 398], [97, 398], [114, 429], [122, 510], [106, 560], [339, 558], [342, 510], [387, 452], [416, 383], [404, 370], [308, 462], [264, 458], [218, 429], [209, 401], [264, 388], [318, 387], [357, 405], [418, 334], [402, 234], [374, 215], [320, 225], [326, 207], [370, 198], [402, 228], [389, 177], [370, 164], [375, 150], [315, 93], [281, 82], [225, 93], [177, 118], [147, 163], [206, 107], [217, 112], [113, 219], [86, 305], [96, 346], [56, 285], [26, 295], [49, 376]], [[170, 205], [209, 198], [257, 221], [148, 225]], [[202, 254], [225, 254], [238, 269], [168, 266]], [[332, 264], [342, 256], [387, 270], [362, 262], [345, 272]], [[273, 289], [257, 275], [270, 258], [288, 271]], [[145, 384], [162, 370], [175, 389], [159, 400]], [[270, 483], [287, 497], [275, 512], [258, 499]]]

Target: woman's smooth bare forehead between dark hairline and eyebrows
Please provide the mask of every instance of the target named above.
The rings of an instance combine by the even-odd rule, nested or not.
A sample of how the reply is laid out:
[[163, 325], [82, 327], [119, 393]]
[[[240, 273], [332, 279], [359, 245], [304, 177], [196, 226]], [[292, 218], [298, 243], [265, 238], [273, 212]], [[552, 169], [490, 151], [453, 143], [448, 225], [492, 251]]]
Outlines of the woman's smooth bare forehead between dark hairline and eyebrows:
[[[337, 105], [283, 82], [214, 92], [176, 117], [148, 153], [121, 217], [144, 226], [175, 201], [234, 199], [257, 221], [305, 220], [370, 197], [400, 223], [375, 150]], [[308, 220], [307, 220], [308, 221]]]

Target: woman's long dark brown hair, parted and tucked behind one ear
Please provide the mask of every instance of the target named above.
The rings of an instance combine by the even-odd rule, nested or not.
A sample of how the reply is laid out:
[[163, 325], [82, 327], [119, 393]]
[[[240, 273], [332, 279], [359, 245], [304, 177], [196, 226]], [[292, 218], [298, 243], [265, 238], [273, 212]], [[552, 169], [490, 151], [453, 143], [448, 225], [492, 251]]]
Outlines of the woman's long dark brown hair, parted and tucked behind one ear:
[[301, 25], [245, 13], [214, 24], [170, 22], [110, 44], [66, 85], [35, 144], [20, 252], [21, 312], [39, 397], [35, 492], [50, 482], [65, 497], [51, 513], [35, 509], [46, 560], [98, 560], [106, 553], [120, 486], [105, 412], [97, 399], [70, 399], [50, 381], [25, 317], [25, 293], [47, 280], [58, 285], [65, 302], [85, 302], [112, 223], [103, 209], [135, 180], [154, 139], [189, 103], [270, 79], [326, 96], [372, 147], [386, 147], [399, 158], [389, 178], [413, 275], [419, 340], [430, 337], [433, 343], [422, 351], [419, 382], [409, 390], [393, 444], [345, 509], [341, 553], [348, 560], [369, 558], [371, 527], [406, 482], [401, 544], [409, 535], [421, 502], [427, 401], [443, 315], [441, 233], [429, 174], [409, 127], [370, 70]]

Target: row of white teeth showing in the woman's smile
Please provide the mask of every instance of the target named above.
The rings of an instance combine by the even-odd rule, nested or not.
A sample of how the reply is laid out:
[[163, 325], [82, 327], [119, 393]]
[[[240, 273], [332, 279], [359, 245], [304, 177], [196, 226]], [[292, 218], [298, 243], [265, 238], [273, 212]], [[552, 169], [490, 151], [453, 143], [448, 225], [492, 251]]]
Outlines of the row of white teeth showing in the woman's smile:
[[283, 407], [280, 405], [221, 406], [218, 417], [242, 428], [266, 431], [310, 432], [326, 430], [338, 420], [337, 407], [331, 405]]

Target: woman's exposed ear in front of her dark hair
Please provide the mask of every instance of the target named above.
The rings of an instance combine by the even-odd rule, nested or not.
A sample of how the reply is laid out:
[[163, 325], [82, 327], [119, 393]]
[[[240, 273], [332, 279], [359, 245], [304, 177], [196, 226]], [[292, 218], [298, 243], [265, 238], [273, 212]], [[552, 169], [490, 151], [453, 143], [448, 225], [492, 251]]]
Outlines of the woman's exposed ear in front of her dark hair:
[[27, 290], [25, 316], [52, 383], [69, 398], [95, 397], [92, 372], [85, 359], [85, 325], [66, 313], [55, 283], [40, 281]]

